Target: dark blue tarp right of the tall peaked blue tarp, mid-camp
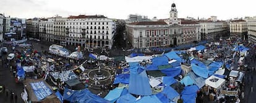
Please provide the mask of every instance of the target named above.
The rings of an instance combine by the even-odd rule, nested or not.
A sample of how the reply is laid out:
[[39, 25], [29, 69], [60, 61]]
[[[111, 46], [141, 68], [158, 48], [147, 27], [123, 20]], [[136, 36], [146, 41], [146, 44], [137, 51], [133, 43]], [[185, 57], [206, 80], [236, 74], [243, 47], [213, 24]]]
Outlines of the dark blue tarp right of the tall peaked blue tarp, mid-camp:
[[177, 75], [181, 74], [181, 66], [163, 69], [161, 70], [161, 72], [163, 72], [163, 74], [166, 74], [167, 76], [176, 77]]

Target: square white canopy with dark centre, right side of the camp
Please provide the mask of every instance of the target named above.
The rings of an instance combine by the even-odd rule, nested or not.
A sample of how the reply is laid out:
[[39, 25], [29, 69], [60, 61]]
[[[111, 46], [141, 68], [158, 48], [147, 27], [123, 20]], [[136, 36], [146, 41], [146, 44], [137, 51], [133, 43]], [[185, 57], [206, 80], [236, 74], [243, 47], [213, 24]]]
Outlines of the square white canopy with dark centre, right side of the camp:
[[211, 77], [208, 77], [205, 80], [205, 85], [211, 86], [213, 88], [220, 88], [221, 85], [225, 83], [225, 80], [223, 78], [216, 77], [214, 75], [211, 75]]

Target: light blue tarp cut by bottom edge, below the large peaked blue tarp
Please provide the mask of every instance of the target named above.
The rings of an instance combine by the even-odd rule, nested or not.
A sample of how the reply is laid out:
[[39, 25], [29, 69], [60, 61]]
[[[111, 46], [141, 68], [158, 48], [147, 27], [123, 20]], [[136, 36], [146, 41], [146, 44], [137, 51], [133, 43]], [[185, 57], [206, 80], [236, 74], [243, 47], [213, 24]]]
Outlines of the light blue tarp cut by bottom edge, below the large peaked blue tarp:
[[143, 96], [141, 99], [139, 99], [138, 101], [136, 101], [135, 103], [162, 103], [158, 97], [156, 97], [156, 95], [152, 95], [152, 96]]

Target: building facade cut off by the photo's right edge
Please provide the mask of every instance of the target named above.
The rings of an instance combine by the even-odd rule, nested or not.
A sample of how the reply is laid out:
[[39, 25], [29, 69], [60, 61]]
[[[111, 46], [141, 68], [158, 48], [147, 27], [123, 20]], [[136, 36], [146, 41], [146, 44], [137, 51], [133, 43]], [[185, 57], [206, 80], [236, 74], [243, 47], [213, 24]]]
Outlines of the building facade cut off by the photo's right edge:
[[247, 22], [248, 28], [248, 42], [250, 44], [256, 44], [256, 19], [249, 20]]

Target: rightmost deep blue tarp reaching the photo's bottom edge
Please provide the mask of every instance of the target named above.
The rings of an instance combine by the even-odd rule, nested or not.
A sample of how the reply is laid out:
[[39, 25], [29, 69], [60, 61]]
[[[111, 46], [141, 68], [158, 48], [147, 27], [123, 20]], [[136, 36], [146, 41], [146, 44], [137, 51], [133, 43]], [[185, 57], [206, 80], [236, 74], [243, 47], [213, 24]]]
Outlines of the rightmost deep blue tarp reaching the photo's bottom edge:
[[184, 103], [195, 102], [195, 97], [197, 97], [197, 91], [199, 88], [196, 85], [185, 86], [184, 90], [181, 93], [181, 98]]

